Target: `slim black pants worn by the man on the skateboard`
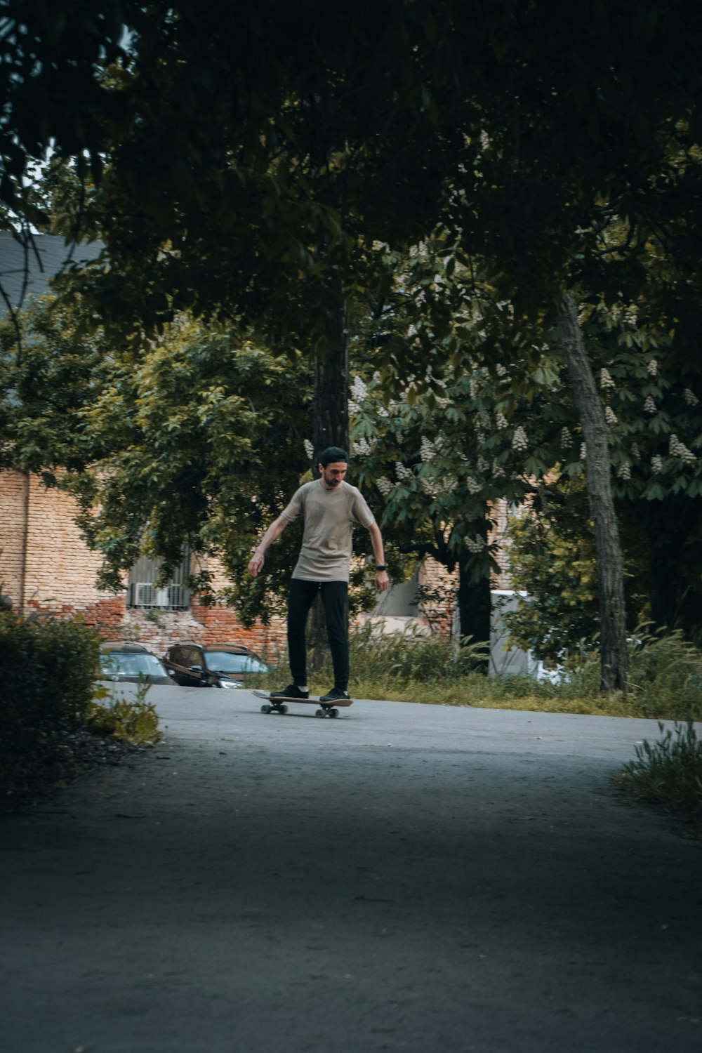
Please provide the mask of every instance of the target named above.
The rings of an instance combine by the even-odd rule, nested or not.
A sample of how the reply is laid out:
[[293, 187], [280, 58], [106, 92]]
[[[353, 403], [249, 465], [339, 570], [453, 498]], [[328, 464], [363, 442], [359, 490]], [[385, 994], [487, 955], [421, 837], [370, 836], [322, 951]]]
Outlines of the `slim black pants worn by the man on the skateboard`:
[[348, 687], [348, 582], [303, 581], [293, 578], [287, 599], [287, 654], [293, 682], [307, 682], [307, 615], [321, 593], [326, 617], [326, 635], [334, 662], [334, 687]]

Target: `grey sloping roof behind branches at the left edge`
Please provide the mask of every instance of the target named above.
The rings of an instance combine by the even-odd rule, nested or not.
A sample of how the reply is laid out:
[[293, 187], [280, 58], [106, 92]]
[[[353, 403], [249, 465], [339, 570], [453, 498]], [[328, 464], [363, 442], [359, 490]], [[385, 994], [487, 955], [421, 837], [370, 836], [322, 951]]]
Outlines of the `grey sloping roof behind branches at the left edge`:
[[4, 296], [0, 296], [0, 314], [7, 306], [5, 296], [13, 309], [22, 305], [25, 273], [25, 298], [43, 296], [51, 292], [49, 279], [65, 263], [84, 263], [97, 259], [104, 247], [102, 241], [66, 245], [63, 238], [54, 234], [35, 234], [32, 240], [33, 244], [25, 252], [24, 246], [9, 231], [0, 231], [0, 289], [4, 293]]

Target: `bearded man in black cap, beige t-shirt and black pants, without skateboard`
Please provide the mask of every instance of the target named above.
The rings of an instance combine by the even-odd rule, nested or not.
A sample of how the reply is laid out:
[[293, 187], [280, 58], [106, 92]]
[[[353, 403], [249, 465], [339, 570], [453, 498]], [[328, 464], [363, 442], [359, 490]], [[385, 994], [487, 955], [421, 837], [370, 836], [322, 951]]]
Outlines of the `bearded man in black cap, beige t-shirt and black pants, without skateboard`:
[[319, 479], [306, 482], [261, 538], [248, 571], [260, 573], [264, 553], [280, 537], [287, 524], [303, 516], [304, 531], [300, 556], [293, 571], [287, 600], [287, 653], [293, 682], [284, 691], [274, 691], [276, 698], [309, 698], [307, 687], [307, 614], [321, 594], [326, 617], [326, 631], [334, 663], [334, 687], [321, 702], [348, 699], [348, 569], [352, 555], [354, 523], [365, 526], [376, 557], [376, 589], [384, 592], [389, 585], [385, 572], [383, 539], [370, 509], [356, 486], [344, 482], [348, 454], [339, 446], [329, 446], [319, 458]]

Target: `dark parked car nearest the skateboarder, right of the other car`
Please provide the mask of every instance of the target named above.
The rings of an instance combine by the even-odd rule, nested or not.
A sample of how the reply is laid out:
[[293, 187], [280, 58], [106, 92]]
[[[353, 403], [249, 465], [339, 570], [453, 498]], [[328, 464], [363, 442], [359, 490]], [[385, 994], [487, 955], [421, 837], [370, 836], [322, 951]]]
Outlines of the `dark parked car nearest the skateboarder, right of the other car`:
[[163, 664], [176, 683], [188, 688], [244, 688], [268, 667], [240, 643], [175, 643]]

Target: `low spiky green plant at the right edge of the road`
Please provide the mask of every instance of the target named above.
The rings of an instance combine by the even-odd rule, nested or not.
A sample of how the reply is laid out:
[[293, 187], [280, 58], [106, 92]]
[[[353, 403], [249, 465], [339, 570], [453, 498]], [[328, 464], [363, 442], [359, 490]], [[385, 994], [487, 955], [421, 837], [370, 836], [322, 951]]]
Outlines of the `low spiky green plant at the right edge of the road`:
[[702, 740], [691, 719], [674, 728], [659, 723], [662, 738], [636, 747], [636, 760], [624, 766], [617, 783], [661, 804], [702, 835]]

